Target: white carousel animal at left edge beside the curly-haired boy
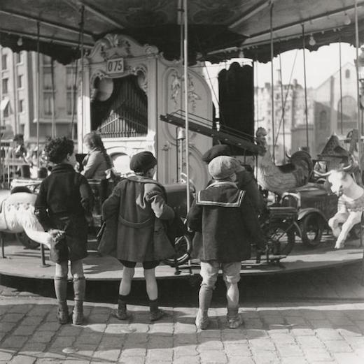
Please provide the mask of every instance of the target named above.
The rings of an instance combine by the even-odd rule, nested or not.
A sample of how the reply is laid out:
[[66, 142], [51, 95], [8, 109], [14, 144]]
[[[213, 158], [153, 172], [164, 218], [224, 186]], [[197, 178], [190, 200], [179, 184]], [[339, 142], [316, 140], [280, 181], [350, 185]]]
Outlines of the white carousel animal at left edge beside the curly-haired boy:
[[41, 224], [34, 214], [34, 203], [36, 194], [27, 192], [16, 192], [8, 194], [1, 201], [0, 210], [0, 232], [22, 233], [50, 248], [52, 240], [49, 233], [45, 233]]

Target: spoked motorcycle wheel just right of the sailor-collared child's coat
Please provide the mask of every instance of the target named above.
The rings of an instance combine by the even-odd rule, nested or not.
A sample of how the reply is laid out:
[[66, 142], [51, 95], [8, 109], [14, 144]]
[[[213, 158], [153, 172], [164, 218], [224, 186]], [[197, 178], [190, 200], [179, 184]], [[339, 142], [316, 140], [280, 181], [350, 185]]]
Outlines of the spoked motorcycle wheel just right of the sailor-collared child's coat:
[[288, 255], [295, 245], [295, 228], [286, 221], [271, 222], [265, 231], [274, 255]]

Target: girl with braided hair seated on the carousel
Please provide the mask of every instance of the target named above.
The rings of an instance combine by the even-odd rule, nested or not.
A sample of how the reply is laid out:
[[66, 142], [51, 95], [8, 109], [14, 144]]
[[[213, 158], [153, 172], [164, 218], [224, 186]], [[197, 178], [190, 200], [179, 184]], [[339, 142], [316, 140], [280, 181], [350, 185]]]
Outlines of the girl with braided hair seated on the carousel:
[[104, 180], [106, 171], [113, 168], [113, 162], [106, 153], [101, 136], [96, 131], [91, 131], [84, 136], [83, 143], [89, 152], [83, 159], [81, 174], [88, 180]]

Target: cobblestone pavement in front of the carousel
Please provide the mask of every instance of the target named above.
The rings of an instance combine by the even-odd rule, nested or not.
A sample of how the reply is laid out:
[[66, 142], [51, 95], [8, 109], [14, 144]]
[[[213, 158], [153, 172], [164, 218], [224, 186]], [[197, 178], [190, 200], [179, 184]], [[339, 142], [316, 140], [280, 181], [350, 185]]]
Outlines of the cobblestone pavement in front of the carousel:
[[[50, 284], [40, 295], [6, 281], [0, 286], [0, 363], [363, 364], [360, 275], [361, 265], [356, 264], [297, 273], [290, 279], [251, 277], [241, 285], [244, 325], [237, 330], [227, 327], [220, 282], [211, 326], [200, 332], [194, 325], [198, 286], [188, 290], [178, 280], [161, 284], [161, 302], [169, 316], [155, 323], [148, 320], [148, 307], [137, 301], [130, 307], [133, 319], [118, 321], [114, 300], [95, 302], [101, 284], [89, 284], [83, 326], [57, 323], [53, 293], [44, 294]], [[297, 292], [308, 294], [307, 285], [315, 281], [311, 297], [297, 299]], [[143, 284], [135, 287], [145, 294]]]

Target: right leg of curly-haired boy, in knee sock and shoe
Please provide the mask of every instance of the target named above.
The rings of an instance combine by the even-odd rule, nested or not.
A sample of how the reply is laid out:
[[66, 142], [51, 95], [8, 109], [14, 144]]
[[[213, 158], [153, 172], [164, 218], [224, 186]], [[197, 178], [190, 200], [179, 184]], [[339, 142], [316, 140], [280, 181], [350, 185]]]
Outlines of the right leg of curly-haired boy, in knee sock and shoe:
[[82, 259], [71, 261], [73, 277], [74, 307], [72, 321], [74, 325], [83, 323], [83, 301], [85, 300], [86, 281], [83, 275]]

